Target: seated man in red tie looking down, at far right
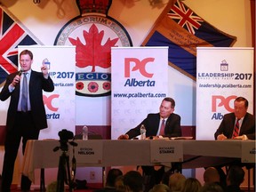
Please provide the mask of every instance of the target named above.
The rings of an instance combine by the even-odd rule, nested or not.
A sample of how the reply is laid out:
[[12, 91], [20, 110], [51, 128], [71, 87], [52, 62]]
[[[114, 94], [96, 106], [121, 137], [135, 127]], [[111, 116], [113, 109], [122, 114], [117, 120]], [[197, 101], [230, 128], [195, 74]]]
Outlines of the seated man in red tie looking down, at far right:
[[218, 130], [214, 134], [215, 140], [255, 140], [255, 116], [247, 112], [248, 100], [244, 97], [237, 97], [234, 107], [234, 112], [223, 116]]

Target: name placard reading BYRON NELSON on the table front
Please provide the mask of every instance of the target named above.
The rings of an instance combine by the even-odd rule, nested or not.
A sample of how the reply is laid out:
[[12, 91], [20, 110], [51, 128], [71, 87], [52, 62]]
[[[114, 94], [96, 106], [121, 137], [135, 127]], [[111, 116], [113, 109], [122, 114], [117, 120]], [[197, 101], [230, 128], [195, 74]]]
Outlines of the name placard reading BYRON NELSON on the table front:
[[78, 140], [75, 148], [77, 164], [101, 164], [102, 142], [98, 140]]

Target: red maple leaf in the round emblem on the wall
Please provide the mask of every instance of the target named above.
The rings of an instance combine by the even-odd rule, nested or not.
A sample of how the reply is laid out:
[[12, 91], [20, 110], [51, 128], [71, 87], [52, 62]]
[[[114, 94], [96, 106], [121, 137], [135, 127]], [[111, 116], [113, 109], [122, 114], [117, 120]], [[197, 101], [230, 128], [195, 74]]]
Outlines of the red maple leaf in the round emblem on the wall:
[[106, 44], [101, 45], [104, 31], [100, 31], [95, 24], [92, 24], [87, 31], [83, 31], [85, 44], [82, 44], [79, 37], [73, 39], [68, 37], [71, 44], [76, 46], [76, 66], [78, 68], [85, 68], [92, 66], [92, 72], [95, 71], [95, 67], [109, 68], [110, 62], [110, 51], [111, 47], [115, 46], [118, 38], [110, 40], [108, 38]]

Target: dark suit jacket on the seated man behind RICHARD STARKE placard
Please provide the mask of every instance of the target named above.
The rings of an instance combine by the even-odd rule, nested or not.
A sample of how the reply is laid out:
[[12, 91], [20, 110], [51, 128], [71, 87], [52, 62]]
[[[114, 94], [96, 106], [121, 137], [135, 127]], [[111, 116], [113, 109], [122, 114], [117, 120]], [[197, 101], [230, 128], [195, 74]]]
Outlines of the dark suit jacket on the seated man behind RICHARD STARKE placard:
[[[126, 134], [129, 135], [129, 138], [132, 139], [140, 135], [140, 126], [144, 124], [147, 132], [146, 137], [156, 136], [158, 127], [160, 122], [160, 114], [148, 114], [147, 118], [144, 119], [138, 126], [131, 129]], [[168, 117], [165, 122], [164, 128], [164, 136], [165, 137], [180, 137], [181, 129], [180, 129], [180, 116], [172, 113], [171, 116]]]

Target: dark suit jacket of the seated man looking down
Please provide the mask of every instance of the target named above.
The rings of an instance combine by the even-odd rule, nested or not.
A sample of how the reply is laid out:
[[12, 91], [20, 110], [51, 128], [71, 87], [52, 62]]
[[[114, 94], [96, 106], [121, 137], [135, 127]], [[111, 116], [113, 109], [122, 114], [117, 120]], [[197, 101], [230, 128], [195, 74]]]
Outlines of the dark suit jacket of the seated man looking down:
[[[214, 137], [217, 140], [219, 134], [223, 133], [228, 139], [232, 138], [236, 116], [234, 113], [229, 113], [223, 116], [222, 122]], [[249, 140], [255, 140], [255, 117], [252, 114], [246, 113], [243, 124], [240, 128], [239, 135], [246, 135]]]

